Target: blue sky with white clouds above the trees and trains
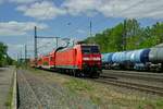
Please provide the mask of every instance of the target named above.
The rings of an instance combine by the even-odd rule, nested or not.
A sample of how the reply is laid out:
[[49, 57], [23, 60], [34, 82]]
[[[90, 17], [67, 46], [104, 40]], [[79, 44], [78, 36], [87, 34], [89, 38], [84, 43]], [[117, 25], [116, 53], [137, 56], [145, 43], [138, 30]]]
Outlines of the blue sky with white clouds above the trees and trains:
[[[163, 0], [0, 0], [0, 41], [8, 44], [13, 58], [25, 44], [33, 56], [35, 25], [40, 36], [80, 40], [89, 35], [90, 21], [96, 34], [126, 17], [137, 19], [141, 26], [163, 22]], [[38, 46], [47, 43], [39, 53], [54, 48], [54, 39], [39, 39]]]

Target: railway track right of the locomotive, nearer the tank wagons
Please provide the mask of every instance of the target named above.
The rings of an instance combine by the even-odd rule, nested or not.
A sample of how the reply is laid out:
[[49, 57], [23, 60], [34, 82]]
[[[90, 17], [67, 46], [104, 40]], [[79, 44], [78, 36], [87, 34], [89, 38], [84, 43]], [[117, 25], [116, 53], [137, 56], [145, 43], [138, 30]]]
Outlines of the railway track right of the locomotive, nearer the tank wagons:
[[145, 80], [145, 81], [152, 81], [152, 82], [161, 82], [163, 83], [163, 75], [162, 74], [151, 74], [151, 73], [130, 73], [128, 71], [108, 71], [104, 70], [103, 74], [101, 74], [103, 77], [127, 77], [127, 78], [137, 78], [137, 80]]

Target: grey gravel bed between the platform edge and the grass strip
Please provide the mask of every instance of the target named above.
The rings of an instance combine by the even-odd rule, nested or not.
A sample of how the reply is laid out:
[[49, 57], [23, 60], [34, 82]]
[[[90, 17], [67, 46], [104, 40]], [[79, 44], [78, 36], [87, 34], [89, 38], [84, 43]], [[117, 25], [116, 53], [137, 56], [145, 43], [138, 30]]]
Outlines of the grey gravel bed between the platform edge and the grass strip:
[[[95, 109], [89, 99], [77, 97], [65, 88], [41, 80], [24, 71], [18, 71], [20, 109]], [[26, 80], [26, 81], [25, 81]], [[38, 100], [39, 99], [39, 100]]]

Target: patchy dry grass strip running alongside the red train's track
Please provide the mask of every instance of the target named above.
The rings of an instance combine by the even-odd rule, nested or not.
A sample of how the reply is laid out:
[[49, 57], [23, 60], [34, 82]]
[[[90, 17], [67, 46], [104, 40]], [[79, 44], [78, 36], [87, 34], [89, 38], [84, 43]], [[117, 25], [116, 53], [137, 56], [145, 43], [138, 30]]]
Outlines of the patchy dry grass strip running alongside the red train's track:
[[[46, 71], [36, 70], [35, 72], [37, 73], [34, 74], [38, 76], [66, 87], [70, 94], [90, 99], [92, 104], [102, 109], [163, 109], [162, 97], [126, 90], [121, 87], [103, 85], [62, 74], [48, 73]], [[38, 72], [41, 73], [38, 74]], [[110, 106], [113, 107], [110, 108]]]

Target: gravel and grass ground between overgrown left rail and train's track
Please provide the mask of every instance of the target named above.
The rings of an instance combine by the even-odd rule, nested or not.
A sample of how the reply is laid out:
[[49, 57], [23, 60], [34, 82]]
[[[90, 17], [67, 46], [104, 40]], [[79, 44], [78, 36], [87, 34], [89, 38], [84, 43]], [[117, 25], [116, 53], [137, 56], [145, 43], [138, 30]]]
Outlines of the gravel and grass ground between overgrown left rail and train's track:
[[41, 109], [163, 109], [163, 99], [156, 95], [41, 70], [20, 73], [35, 92]]

